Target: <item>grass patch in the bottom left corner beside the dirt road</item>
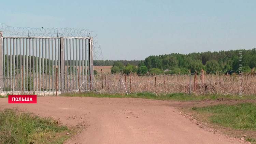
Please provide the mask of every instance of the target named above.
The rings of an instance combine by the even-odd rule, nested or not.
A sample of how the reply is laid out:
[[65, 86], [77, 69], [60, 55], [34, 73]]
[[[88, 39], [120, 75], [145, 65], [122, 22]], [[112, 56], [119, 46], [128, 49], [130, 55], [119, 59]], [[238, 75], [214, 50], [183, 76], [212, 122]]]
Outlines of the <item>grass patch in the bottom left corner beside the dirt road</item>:
[[62, 144], [69, 129], [57, 120], [17, 110], [0, 111], [1, 144]]

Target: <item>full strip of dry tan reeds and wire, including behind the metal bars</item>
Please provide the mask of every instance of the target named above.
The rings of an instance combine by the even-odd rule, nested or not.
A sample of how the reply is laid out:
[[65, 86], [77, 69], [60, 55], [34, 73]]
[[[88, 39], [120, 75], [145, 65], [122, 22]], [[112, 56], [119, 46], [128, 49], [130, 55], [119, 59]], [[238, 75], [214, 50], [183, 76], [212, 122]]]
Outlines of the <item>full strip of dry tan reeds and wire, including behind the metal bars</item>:
[[[23, 73], [25, 73], [24, 71]], [[65, 89], [68, 91], [97, 91], [100, 93], [194, 93], [194, 94], [223, 94], [238, 95], [240, 86], [243, 95], [256, 93], [256, 75], [251, 73], [238, 74], [186, 74], [186, 75], [124, 75], [124, 74], [96, 74], [90, 82], [89, 75], [81, 75], [81, 71], [72, 70], [65, 75]], [[213, 72], [212, 72], [213, 73]], [[214, 72], [216, 73], [216, 72]], [[17, 75], [15, 75], [17, 74]], [[67, 74], [67, 72], [66, 72]], [[16, 78], [18, 79], [16, 80]], [[44, 77], [44, 79], [43, 79]], [[203, 77], [203, 78], [202, 78]], [[59, 74], [35, 74], [35, 77], [14, 73], [6, 77], [4, 91], [59, 91]], [[41, 81], [37, 81], [41, 80]]]

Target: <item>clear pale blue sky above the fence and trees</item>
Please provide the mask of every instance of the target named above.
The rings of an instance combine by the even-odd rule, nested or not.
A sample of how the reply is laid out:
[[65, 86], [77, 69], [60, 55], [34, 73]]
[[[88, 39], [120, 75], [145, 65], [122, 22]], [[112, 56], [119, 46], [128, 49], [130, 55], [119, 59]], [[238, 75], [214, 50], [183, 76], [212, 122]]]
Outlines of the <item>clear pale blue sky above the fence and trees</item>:
[[97, 33], [104, 60], [256, 47], [255, 0], [2, 0], [0, 23]]

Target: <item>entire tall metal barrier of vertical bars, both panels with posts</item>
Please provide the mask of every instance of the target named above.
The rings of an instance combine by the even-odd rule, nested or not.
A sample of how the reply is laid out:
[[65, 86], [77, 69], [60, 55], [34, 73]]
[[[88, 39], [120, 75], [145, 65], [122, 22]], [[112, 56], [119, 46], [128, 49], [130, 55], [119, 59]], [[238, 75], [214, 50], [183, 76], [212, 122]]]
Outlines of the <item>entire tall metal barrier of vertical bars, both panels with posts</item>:
[[4, 37], [0, 31], [1, 91], [92, 90], [93, 71], [92, 37]]

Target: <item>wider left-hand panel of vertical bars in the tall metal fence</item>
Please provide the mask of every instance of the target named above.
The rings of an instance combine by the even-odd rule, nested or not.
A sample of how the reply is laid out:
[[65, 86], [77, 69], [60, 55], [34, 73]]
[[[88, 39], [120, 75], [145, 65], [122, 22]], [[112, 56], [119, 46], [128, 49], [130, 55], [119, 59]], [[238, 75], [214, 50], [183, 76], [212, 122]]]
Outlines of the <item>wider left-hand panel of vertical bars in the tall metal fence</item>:
[[3, 90], [60, 90], [54, 73], [60, 61], [58, 45], [57, 39], [3, 38]]

